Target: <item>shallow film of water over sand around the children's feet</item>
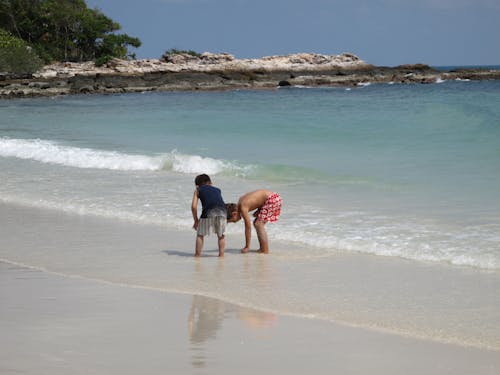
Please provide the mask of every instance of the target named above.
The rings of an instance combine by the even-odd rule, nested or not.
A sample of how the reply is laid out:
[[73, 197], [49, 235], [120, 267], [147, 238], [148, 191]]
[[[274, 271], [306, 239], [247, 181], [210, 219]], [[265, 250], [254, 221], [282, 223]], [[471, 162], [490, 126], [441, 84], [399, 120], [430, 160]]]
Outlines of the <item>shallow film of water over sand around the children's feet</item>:
[[[270, 256], [242, 255], [234, 235], [227, 236], [223, 260], [213, 241], [196, 259], [188, 231], [4, 203], [0, 208], [0, 259], [11, 264], [145, 292], [197, 294], [400, 339], [500, 348], [496, 272], [366, 254], [315, 259], [307, 249], [283, 245]], [[307, 292], [311, 288], [326, 288], [326, 294]]]

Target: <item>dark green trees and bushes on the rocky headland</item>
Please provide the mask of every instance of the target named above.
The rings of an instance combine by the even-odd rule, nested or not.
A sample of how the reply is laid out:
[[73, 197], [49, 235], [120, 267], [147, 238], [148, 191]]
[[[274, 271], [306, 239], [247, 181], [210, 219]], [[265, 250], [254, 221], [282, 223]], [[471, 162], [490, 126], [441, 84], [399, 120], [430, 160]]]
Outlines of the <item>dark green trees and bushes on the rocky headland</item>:
[[29, 73], [40, 61], [135, 58], [138, 38], [85, 0], [0, 0], [0, 71]]

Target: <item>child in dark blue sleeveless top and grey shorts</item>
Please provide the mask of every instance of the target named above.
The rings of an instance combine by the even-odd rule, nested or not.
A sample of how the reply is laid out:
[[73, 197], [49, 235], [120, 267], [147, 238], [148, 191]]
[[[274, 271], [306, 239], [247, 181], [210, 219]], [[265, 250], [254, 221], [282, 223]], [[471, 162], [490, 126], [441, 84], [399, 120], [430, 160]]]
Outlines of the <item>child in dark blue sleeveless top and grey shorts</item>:
[[[219, 245], [219, 257], [224, 256], [226, 239], [226, 205], [222, 199], [219, 188], [212, 186], [210, 177], [206, 174], [196, 176], [194, 183], [196, 189], [191, 203], [191, 212], [193, 213], [193, 228], [197, 231], [196, 248], [194, 256], [199, 257], [203, 248], [203, 238], [211, 232], [217, 234]], [[201, 200], [202, 211], [198, 219], [198, 199]]]

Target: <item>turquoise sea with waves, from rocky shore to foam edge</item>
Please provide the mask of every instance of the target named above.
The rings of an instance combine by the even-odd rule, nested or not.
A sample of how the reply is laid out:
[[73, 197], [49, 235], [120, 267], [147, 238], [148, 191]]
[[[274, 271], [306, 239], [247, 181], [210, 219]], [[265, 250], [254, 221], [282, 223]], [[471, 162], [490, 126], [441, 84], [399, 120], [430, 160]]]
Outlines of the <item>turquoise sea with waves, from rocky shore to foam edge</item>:
[[498, 81], [2, 101], [0, 199], [189, 229], [208, 173], [228, 202], [280, 192], [277, 249], [500, 269], [499, 103]]

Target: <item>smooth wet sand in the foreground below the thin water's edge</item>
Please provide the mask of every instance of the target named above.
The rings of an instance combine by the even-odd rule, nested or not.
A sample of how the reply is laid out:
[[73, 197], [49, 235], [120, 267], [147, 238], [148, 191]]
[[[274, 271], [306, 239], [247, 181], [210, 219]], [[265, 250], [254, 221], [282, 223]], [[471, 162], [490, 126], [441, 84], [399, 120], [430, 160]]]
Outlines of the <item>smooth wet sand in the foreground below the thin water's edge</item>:
[[0, 263], [2, 374], [497, 374], [500, 353]]

